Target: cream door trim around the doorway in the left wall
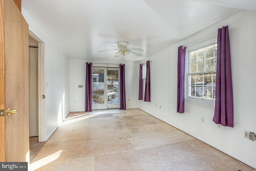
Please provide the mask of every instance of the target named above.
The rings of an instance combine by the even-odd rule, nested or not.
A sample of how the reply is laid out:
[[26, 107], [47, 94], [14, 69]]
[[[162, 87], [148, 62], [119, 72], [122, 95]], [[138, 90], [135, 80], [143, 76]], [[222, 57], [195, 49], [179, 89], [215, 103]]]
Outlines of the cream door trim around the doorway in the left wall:
[[32, 31], [28, 35], [38, 42], [38, 141], [46, 141], [45, 121], [45, 65], [44, 65], [44, 42]]

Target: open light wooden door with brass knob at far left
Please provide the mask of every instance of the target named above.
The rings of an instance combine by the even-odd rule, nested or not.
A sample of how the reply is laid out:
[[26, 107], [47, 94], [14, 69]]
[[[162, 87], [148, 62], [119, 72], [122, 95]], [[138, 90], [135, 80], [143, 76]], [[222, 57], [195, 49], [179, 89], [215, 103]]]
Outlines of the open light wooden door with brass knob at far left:
[[[0, 161], [29, 161], [28, 24], [13, 0], [0, 0]], [[5, 129], [5, 130], [4, 130]]]

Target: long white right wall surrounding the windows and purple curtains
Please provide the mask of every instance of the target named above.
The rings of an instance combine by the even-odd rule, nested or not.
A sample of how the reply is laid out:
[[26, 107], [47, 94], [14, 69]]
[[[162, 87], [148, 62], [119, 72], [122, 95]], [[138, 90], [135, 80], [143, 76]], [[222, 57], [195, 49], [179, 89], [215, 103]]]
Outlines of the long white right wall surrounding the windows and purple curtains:
[[[178, 46], [192, 44], [226, 25], [230, 29], [234, 128], [220, 129], [212, 121], [214, 103], [185, 99], [185, 113], [176, 113], [177, 55]], [[139, 108], [256, 168], [256, 141], [243, 137], [244, 129], [256, 132], [255, 30], [256, 12], [243, 11], [150, 56], [146, 60], [152, 61], [151, 102], [139, 101]]]

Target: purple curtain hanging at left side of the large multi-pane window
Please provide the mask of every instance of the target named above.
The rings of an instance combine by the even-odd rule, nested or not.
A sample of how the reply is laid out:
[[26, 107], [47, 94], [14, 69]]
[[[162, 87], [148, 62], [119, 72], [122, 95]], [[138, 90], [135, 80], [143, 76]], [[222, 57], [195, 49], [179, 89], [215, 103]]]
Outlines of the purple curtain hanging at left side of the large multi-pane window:
[[184, 79], [186, 47], [178, 47], [177, 112], [184, 113]]

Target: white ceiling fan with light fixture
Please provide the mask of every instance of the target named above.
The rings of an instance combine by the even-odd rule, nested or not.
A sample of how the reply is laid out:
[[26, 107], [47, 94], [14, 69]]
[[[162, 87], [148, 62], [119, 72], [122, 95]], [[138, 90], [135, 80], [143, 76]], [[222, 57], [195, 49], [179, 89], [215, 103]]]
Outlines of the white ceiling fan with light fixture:
[[[128, 45], [128, 42], [120, 41], [120, 42], [117, 42], [117, 46], [112, 46], [112, 47], [115, 47], [118, 49], [110, 49], [110, 50], [118, 50], [118, 52], [115, 53], [116, 54], [115, 57], [122, 56], [122, 60], [124, 60], [125, 56], [129, 55], [130, 53], [137, 55], [137, 56], [141, 56], [141, 54], [138, 54], [137, 52], [134, 52], [132, 50], [144, 51], [141, 48], [129, 48], [129, 47], [127, 47], [127, 45]], [[102, 51], [98, 51], [98, 52], [104, 52], [104, 51], [108, 51], [108, 50], [102, 50]]]

